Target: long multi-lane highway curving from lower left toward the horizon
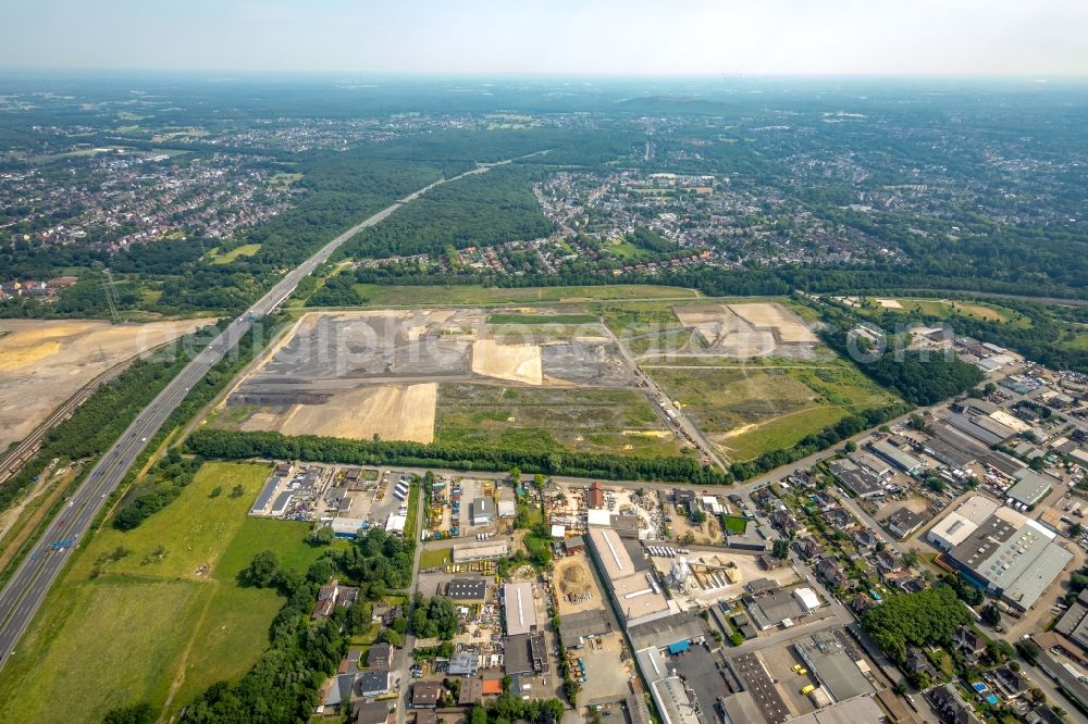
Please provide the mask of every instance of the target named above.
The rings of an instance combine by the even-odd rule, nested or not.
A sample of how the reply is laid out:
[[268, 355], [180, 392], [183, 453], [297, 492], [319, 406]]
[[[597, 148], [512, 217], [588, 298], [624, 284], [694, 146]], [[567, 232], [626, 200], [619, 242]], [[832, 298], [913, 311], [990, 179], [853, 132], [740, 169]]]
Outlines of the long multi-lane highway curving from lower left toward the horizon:
[[381, 223], [401, 205], [418, 199], [435, 186], [470, 174], [485, 173], [495, 165], [500, 164], [478, 165], [459, 176], [434, 182], [344, 232], [288, 272], [260, 301], [232, 321], [210, 345], [193, 358], [151, 403], [140, 411], [113, 447], [99, 459], [64, 509], [48, 523], [40, 544], [23, 560], [0, 591], [0, 667], [3, 667], [14, 654], [20, 638], [63, 570], [69, 551], [78, 546], [87, 535], [106, 499], [124, 479], [125, 473], [139, 457], [147, 441], [185, 399], [193, 385], [238, 345], [254, 323], [279, 308], [295, 291], [299, 282], [326, 262], [341, 245], [363, 228]]

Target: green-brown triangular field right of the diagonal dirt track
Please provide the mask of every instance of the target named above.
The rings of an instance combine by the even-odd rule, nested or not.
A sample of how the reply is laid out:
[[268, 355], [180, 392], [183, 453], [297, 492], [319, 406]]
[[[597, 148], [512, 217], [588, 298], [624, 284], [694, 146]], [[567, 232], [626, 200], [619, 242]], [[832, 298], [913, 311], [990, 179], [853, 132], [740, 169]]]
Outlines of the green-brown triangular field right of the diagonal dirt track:
[[845, 365], [646, 370], [733, 460], [796, 445], [851, 410], [890, 402], [890, 394]]

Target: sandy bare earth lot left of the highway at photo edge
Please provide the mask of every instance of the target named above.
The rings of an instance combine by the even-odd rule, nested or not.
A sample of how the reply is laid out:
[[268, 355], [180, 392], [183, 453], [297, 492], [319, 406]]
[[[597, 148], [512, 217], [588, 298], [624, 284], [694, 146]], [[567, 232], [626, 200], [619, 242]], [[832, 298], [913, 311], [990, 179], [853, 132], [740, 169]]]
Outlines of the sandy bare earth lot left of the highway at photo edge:
[[113, 365], [211, 322], [0, 320], [0, 450]]

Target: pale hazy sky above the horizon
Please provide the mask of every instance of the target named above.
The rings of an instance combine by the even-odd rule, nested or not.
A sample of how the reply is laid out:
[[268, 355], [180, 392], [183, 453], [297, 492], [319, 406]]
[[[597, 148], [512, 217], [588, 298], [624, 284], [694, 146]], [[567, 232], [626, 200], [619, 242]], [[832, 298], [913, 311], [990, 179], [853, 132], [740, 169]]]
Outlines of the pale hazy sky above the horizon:
[[1088, 76], [1088, 0], [0, 0], [0, 66]]

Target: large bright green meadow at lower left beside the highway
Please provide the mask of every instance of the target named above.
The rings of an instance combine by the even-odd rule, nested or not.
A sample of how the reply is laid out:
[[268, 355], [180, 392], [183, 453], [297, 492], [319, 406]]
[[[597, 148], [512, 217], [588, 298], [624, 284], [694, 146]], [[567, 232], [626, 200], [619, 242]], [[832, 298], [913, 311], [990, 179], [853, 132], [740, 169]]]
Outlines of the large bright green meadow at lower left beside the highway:
[[[265, 548], [298, 570], [321, 553], [305, 544], [306, 524], [246, 517], [267, 473], [208, 463], [141, 526], [104, 528], [75, 553], [20, 647], [33, 658], [16, 654], [0, 671], [0, 721], [101, 721], [118, 706], [161, 707], [175, 685], [176, 712], [209, 684], [245, 673], [283, 601], [239, 586], [238, 572]], [[232, 498], [237, 484], [246, 494]], [[224, 494], [210, 497], [215, 487]], [[57, 686], [79, 706], [57, 706]]]

